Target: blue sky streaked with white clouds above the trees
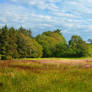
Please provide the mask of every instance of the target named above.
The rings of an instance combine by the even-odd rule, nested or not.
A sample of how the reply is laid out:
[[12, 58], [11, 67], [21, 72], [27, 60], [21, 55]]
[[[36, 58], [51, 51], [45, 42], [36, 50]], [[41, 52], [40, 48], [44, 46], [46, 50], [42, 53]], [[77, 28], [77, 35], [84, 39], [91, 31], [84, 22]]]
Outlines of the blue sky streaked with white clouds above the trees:
[[0, 0], [0, 27], [31, 29], [33, 36], [61, 29], [69, 40], [92, 39], [92, 0]]

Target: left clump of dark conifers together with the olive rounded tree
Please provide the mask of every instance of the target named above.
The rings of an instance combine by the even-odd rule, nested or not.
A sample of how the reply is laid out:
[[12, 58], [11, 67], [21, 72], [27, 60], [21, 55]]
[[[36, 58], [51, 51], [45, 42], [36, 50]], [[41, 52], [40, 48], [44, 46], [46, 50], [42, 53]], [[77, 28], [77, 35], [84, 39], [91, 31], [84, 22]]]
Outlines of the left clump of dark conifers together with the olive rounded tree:
[[41, 57], [42, 46], [32, 38], [32, 32], [20, 27], [0, 29], [1, 59]]

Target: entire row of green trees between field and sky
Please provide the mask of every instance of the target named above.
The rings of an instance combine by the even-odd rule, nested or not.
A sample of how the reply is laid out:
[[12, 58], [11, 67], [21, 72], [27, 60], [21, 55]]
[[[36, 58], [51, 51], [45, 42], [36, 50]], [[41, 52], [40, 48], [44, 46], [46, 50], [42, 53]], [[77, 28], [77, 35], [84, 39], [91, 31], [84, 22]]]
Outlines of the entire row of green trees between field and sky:
[[59, 29], [32, 37], [31, 30], [3, 26], [0, 29], [0, 59], [92, 57], [92, 39], [88, 41], [73, 35], [67, 43]]

